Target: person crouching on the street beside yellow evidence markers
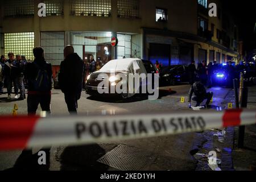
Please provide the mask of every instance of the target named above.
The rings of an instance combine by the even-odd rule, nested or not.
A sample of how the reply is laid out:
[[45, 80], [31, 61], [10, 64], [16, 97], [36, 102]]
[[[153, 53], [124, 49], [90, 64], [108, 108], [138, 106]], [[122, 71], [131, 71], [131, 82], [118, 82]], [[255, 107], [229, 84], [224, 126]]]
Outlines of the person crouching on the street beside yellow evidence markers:
[[[193, 96], [194, 94], [194, 96]], [[193, 97], [192, 97], [193, 96]], [[213, 92], [207, 93], [207, 90], [204, 86], [204, 84], [200, 81], [195, 82], [188, 93], [188, 106], [189, 108], [192, 107], [191, 100], [196, 101], [196, 107], [200, 106], [200, 104], [207, 100], [205, 103], [205, 107], [209, 108], [210, 100], [212, 100]]]

